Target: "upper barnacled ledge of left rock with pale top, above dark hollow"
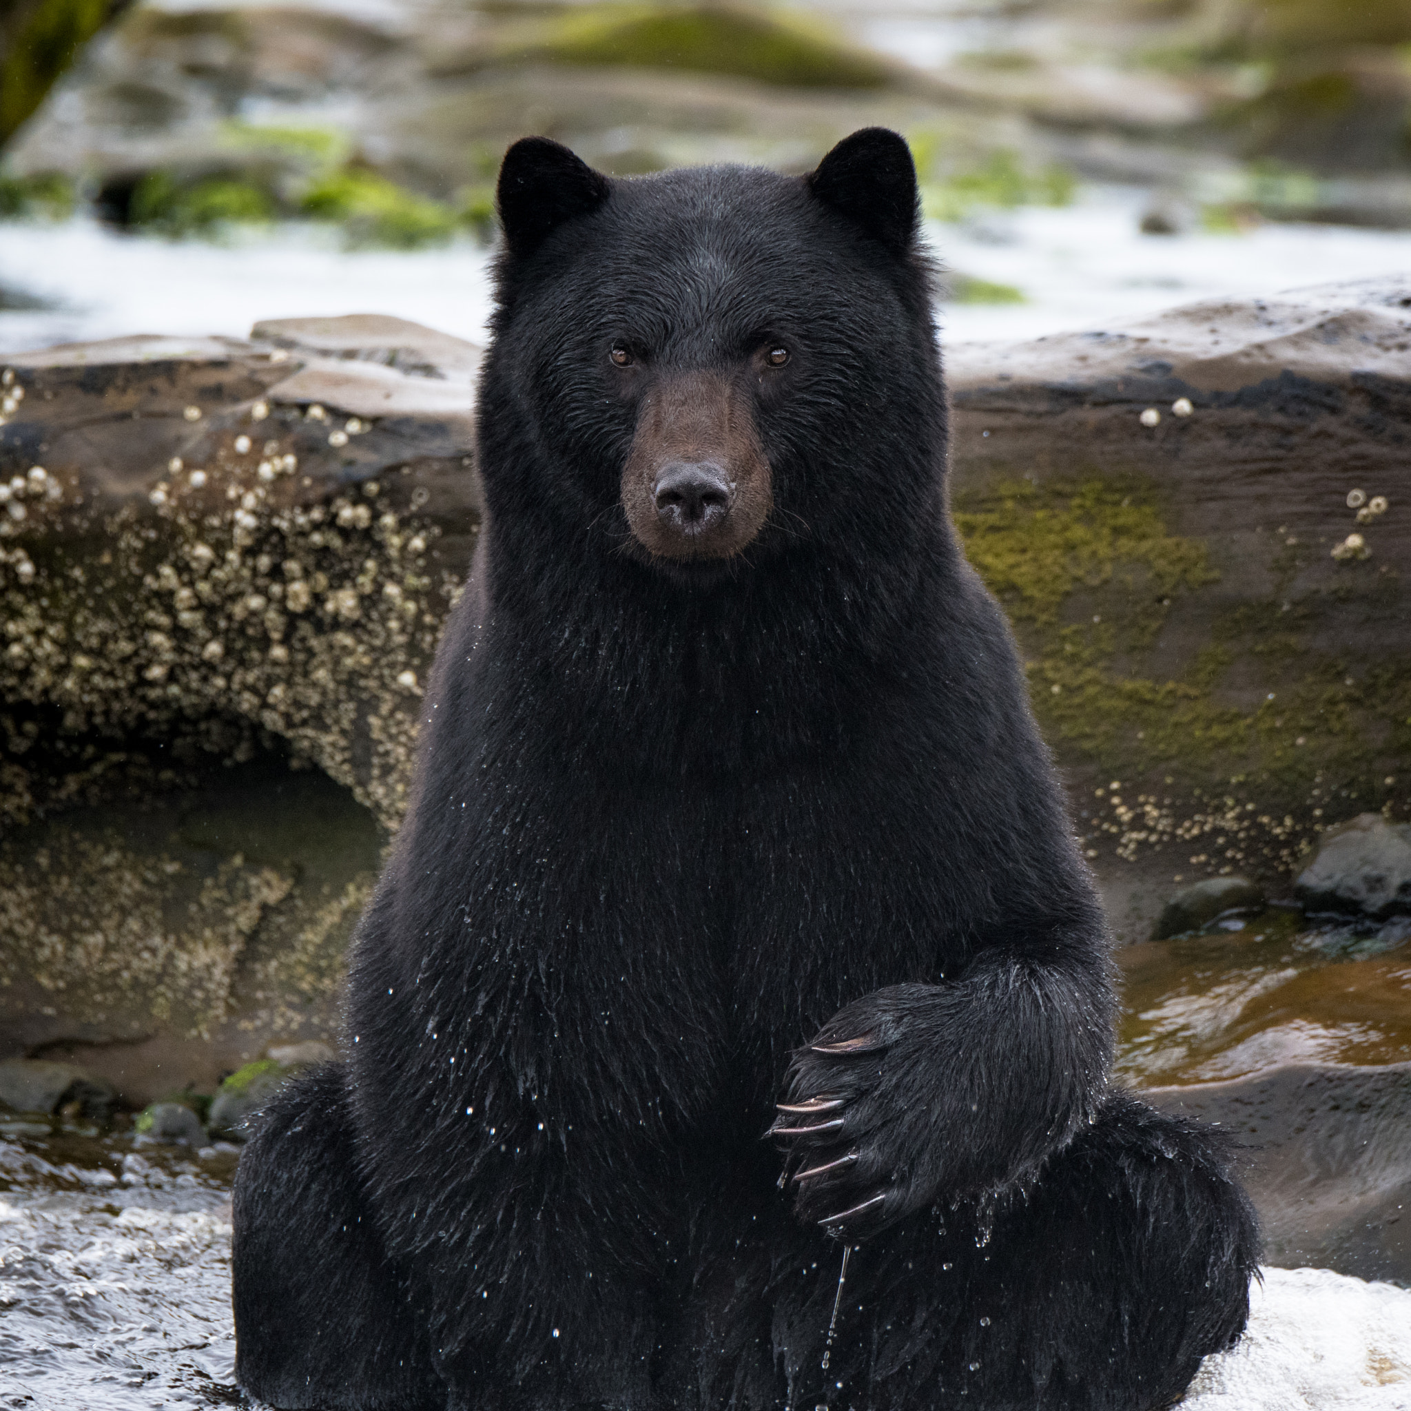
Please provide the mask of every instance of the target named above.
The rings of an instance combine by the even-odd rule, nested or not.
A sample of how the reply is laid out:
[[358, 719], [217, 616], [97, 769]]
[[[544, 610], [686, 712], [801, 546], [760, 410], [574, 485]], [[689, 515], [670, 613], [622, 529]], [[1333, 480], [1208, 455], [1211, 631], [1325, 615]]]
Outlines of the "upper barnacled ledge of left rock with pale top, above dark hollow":
[[[425, 674], [478, 526], [477, 350], [368, 316], [258, 332], [10, 361], [0, 700], [68, 737], [275, 741], [392, 827], [406, 673]], [[0, 810], [23, 821], [11, 755]]]

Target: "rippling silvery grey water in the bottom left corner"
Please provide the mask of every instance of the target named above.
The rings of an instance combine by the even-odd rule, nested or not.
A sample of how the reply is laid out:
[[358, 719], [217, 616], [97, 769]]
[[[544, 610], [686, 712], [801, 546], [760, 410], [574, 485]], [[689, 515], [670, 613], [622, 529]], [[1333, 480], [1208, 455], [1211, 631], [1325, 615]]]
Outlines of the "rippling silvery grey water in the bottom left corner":
[[0, 1139], [0, 1407], [238, 1404], [236, 1151]]

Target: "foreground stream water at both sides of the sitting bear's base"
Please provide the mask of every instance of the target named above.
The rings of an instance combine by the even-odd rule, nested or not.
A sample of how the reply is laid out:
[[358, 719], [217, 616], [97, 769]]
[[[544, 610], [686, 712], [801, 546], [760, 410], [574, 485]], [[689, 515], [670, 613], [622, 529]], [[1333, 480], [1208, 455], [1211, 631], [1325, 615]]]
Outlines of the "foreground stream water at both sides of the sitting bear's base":
[[[240, 1404], [230, 1318], [236, 1151], [0, 1137], [0, 1408]], [[1411, 1292], [1266, 1270], [1249, 1335], [1189, 1411], [1405, 1411]]]

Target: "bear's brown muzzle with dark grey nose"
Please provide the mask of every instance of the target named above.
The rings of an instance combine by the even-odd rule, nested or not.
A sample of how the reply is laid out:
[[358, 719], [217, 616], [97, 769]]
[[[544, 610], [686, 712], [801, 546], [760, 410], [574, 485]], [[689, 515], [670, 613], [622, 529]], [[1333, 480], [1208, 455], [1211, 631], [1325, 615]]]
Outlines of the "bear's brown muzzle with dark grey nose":
[[728, 559], [759, 533], [769, 505], [748, 389], [718, 373], [658, 381], [622, 468], [634, 538], [663, 559]]

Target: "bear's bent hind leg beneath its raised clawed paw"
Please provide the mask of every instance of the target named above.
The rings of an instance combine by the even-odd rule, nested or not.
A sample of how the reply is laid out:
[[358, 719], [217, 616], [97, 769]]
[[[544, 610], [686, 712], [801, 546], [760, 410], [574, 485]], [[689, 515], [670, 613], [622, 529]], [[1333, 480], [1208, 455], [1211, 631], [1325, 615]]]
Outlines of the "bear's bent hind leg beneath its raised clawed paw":
[[775, 1295], [792, 1411], [1171, 1405], [1249, 1314], [1259, 1233], [1223, 1147], [1118, 1092], [1027, 1197], [991, 1215], [938, 1208], [864, 1240], [827, 1383], [841, 1252], [823, 1257], [827, 1242], [803, 1235], [797, 1277]]

